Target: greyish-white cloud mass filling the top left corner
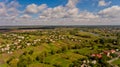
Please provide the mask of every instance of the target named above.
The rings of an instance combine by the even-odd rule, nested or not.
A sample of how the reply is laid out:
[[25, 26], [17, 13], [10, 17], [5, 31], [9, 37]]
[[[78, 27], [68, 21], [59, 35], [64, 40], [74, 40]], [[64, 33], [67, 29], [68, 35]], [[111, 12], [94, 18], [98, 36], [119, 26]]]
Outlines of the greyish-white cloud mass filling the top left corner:
[[11, 1], [10, 3], [1, 2], [0, 3], [0, 17], [13, 17], [19, 15], [19, 10], [17, 9], [20, 5], [17, 1]]

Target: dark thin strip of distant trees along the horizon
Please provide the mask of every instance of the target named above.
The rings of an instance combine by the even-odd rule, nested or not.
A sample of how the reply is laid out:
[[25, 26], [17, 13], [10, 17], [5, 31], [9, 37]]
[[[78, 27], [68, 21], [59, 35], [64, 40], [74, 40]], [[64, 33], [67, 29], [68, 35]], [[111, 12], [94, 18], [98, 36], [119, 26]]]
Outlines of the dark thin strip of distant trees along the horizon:
[[41, 26], [0, 26], [0, 30], [14, 29], [55, 29], [55, 28], [120, 28], [120, 25], [41, 25]]

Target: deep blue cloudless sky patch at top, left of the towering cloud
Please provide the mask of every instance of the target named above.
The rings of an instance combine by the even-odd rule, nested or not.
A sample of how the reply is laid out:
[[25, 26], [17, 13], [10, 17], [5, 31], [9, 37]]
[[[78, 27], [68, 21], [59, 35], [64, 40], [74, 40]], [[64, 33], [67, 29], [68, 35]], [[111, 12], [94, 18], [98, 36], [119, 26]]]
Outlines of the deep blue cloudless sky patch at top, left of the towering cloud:
[[67, 0], [18, 0], [18, 2], [22, 5], [21, 10], [24, 10], [27, 5], [29, 4], [36, 4], [36, 5], [41, 5], [41, 4], [47, 4], [49, 7], [56, 7], [59, 5], [65, 5], [67, 3]]

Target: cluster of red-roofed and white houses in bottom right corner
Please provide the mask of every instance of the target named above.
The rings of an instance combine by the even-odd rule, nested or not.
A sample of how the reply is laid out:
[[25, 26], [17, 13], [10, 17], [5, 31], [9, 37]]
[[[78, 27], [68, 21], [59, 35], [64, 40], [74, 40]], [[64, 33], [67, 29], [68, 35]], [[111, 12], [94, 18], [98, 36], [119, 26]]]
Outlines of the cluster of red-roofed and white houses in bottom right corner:
[[97, 64], [100, 60], [103, 62], [107, 61], [113, 67], [119, 67], [117, 65], [113, 65], [112, 62], [118, 60], [120, 58], [120, 51], [119, 49], [112, 49], [112, 50], [105, 50], [99, 54], [91, 54], [88, 60], [83, 60], [83, 64], [81, 67], [91, 67], [89, 64]]

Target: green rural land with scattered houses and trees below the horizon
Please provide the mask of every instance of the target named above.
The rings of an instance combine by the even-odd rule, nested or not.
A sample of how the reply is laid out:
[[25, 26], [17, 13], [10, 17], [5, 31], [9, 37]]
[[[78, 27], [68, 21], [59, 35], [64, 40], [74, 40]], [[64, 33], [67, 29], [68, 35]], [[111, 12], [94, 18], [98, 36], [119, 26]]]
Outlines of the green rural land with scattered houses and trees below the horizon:
[[120, 67], [120, 27], [1, 29], [0, 67]]

